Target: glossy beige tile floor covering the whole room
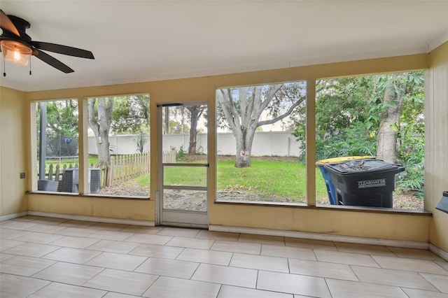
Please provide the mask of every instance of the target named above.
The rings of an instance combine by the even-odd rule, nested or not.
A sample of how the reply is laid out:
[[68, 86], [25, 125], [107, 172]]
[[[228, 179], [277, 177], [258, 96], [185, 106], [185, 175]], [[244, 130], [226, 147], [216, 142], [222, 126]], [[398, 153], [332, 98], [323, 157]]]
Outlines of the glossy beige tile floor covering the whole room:
[[25, 216], [0, 223], [0, 297], [448, 297], [428, 250]]

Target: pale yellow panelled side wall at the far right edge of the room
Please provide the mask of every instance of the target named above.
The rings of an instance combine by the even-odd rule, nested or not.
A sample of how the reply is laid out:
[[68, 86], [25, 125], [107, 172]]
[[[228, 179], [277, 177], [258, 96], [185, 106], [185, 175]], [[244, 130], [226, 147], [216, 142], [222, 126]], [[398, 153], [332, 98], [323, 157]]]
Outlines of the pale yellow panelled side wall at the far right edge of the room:
[[429, 55], [425, 90], [425, 208], [433, 213], [430, 243], [448, 252], [448, 214], [435, 209], [448, 190], [448, 43]]

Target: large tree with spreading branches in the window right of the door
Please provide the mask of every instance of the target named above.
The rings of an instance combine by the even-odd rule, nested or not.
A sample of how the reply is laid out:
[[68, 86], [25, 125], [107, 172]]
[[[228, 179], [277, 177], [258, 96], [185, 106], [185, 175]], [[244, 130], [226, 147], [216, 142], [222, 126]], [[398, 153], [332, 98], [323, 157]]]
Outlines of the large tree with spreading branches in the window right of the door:
[[[218, 125], [228, 126], [235, 136], [235, 166], [251, 166], [255, 130], [285, 119], [306, 99], [304, 83], [288, 83], [221, 89], [216, 92]], [[261, 120], [267, 113], [269, 119]]]

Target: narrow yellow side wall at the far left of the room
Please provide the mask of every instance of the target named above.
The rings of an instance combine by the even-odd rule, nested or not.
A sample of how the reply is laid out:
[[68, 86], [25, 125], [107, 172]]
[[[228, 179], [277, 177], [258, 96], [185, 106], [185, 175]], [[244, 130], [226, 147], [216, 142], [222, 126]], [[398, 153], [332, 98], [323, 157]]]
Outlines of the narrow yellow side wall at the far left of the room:
[[0, 87], [0, 216], [27, 211], [25, 92]]

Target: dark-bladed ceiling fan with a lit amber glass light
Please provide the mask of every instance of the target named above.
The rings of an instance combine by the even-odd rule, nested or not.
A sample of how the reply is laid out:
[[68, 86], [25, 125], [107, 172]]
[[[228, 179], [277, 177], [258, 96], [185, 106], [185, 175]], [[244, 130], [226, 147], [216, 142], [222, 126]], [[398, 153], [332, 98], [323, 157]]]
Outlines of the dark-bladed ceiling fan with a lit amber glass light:
[[14, 15], [6, 15], [6, 13], [3, 13], [3, 10], [0, 9], [0, 28], [3, 30], [3, 34], [0, 36], [0, 43], [1, 50], [3, 50], [3, 57], [7, 54], [12, 56], [12, 59], [15, 58], [18, 60], [18, 57], [20, 57], [22, 53], [27, 54], [28, 57], [33, 55], [64, 73], [72, 73], [73, 69], [42, 50], [57, 52], [62, 55], [73, 57], [94, 59], [92, 52], [88, 50], [72, 48], [66, 45], [57, 45], [55, 43], [32, 41], [31, 37], [25, 33], [25, 29], [28, 29], [29, 27], [31, 27], [31, 25], [26, 20], [23, 20], [20, 17], [15, 17]]

